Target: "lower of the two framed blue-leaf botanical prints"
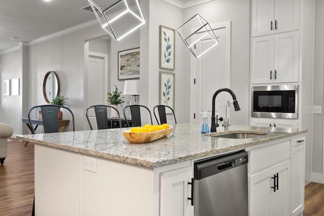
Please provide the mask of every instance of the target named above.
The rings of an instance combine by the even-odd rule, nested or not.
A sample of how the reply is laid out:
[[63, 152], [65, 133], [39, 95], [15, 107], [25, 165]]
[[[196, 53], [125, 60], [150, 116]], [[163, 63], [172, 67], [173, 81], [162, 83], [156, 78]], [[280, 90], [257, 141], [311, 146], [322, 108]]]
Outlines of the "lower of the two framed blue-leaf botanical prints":
[[[160, 71], [159, 104], [174, 109], [174, 73]], [[166, 109], [167, 114], [172, 111]]]

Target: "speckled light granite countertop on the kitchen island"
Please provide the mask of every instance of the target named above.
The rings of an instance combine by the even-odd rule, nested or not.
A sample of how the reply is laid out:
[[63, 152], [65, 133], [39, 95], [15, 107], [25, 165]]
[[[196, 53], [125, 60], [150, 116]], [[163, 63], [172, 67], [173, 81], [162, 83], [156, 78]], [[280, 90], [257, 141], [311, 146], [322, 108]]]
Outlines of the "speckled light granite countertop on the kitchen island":
[[307, 132], [307, 129], [240, 125], [231, 125], [229, 131], [224, 132], [223, 127], [218, 127], [217, 134], [229, 134], [235, 131], [270, 133], [249, 139], [228, 139], [213, 137], [214, 133], [201, 134], [201, 124], [197, 123], [178, 123], [173, 127], [173, 132], [168, 137], [146, 144], [132, 144], [127, 141], [124, 138], [123, 131], [129, 128], [18, 135], [17, 139], [136, 165], [160, 167], [236, 149], [244, 149], [248, 146]]

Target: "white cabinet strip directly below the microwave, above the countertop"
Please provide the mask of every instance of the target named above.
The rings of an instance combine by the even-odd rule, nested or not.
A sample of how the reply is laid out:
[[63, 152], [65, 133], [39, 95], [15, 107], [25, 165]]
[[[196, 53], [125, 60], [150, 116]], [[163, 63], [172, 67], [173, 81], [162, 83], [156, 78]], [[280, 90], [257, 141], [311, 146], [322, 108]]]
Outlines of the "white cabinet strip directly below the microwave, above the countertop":
[[251, 126], [298, 128], [298, 120], [278, 118], [251, 118]]

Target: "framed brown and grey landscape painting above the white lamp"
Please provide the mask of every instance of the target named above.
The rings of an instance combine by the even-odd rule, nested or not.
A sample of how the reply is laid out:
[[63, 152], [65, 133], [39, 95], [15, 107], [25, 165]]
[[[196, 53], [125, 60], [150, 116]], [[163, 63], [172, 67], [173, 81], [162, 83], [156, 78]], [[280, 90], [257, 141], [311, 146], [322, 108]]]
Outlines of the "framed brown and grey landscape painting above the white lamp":
[[140, 77], [140, 48], [118, 52], [118, 80]]

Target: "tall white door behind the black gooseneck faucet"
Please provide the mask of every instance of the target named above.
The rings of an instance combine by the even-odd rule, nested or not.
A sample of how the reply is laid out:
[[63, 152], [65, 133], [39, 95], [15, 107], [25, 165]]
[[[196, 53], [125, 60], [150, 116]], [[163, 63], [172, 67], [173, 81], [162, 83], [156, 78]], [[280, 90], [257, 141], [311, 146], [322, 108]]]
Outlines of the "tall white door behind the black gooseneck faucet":
[[[193, 101], [190, 111], [191, 122], [201, 122], [203, 111], [207, 111], [210, 124], [214, 93], [221, 88], [230, 88], [230, 22], [211, 25], [211, 27], [219, 40], [219, 45], [199, 59], [193, 55], [191, 57], [191, 76], [195, 80], [190, 95]], [[204, 40], [197, 44], [195, 49], [204, 49], [210, 43], [210, 40]], [[222, 92], [216, 97], [215, 110], [216, 114], [219, 113], [218, 117], [225, 118], [227, 100], [230, 101], [230, 95], [227, 92]], [[227, 117], [229, 117], [229, 112]]]

